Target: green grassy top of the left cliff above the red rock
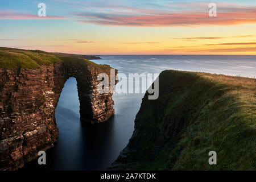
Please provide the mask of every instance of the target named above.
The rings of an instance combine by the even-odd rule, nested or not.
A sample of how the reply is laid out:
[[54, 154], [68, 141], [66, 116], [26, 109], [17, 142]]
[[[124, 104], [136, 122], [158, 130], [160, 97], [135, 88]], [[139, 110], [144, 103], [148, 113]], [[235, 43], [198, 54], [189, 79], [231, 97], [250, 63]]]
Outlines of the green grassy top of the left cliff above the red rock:
[[94, 65], [102, 68], [108, 67], [107, 65], [98, 65], [79, 57], [70, 57], [58, 53], [0, 47], [0, 68], [39, 68], [41, 65], [50, 65], [60, 61], [72, 64]]

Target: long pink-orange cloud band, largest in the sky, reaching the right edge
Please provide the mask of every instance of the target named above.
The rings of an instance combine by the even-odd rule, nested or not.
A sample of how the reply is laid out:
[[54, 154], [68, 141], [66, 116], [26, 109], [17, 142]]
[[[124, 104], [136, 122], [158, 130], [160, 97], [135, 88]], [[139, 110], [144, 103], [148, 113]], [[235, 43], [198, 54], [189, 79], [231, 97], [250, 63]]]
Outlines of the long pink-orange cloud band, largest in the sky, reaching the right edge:
[[100, 16], [79, 15], [81, 22], [96, 23], [105, 26], [137, 26], [137, 27], [184, 27], [198, 25], [230, 25], [242, 23], [256, 23], [255, 14], [218, 13], [217, 17], [210, 18], [207, 13], [158, 14], [133, 16]]

